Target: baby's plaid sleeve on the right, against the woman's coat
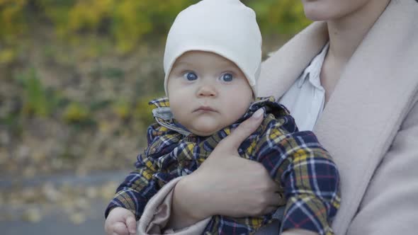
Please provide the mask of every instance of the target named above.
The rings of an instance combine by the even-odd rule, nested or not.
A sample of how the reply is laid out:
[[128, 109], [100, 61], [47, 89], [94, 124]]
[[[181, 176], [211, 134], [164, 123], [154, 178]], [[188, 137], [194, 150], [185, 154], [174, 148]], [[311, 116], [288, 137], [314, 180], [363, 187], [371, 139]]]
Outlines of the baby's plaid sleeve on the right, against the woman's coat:
[[256, 156], [284, 188], [287, 203], [282, 230], [333, 234], [330, 224], [340, 203], [337, 166], [315, 134], [283, 129], [289, 120], [293, 122], [269, 122], [259, 139]]

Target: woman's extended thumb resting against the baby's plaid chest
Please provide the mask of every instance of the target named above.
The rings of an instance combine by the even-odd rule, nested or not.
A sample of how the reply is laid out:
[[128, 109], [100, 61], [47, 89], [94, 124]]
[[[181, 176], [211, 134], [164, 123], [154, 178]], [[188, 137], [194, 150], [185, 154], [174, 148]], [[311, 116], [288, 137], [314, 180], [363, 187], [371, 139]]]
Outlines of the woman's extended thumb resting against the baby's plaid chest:
[[249, 119], [245, 120], [235, 130], [222, 141], [222, 145], [232, 147], [233, 149], [238, 149], [239, 145], [249, 137], [250, 134], [255, 132], [261, 121], [263, 120], [264, 109], [259, 108]]

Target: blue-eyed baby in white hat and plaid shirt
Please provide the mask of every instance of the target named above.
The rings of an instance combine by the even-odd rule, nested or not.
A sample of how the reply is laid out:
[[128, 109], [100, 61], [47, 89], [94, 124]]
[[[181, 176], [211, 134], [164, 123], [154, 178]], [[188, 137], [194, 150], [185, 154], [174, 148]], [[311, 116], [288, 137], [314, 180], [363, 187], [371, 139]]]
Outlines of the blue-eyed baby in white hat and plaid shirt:
[[255, 13], [240, 1], [203, 0], [179, 13], [164, 53], [168, 98], [150, 102], [157, 122], [148, 128], [147, 149], [106, 210], [106, 224], [118, 224], [115, 233], [128, 234], [128, 218], [140, 219], [162, 186], [195, 171], [231, 130], [263, 109], [263, 122], [238, 152], [263, 164], [281, 185], [284, 214], [215, 215], [202, 233], [252, 234], [278, 218], [281, 231], [333, 234], [329, 224], [340, 201], [337, 167], [315, 134], [298, 131], [283, 105], [256, 98], [260, 65]]

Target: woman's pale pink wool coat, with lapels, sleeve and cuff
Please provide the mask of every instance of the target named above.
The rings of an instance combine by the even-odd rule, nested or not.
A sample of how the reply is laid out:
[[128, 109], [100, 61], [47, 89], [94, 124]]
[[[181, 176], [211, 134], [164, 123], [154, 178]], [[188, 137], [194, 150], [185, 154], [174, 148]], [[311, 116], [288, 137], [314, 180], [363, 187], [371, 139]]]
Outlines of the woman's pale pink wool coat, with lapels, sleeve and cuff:
[[[273, 53], [261, 69], [259, 96], [281, 97], [327, 40], [326, 23], [312, 23]], [[336, 234], [417, 234], [417, 100], [418, 2], [392, 0], [346, 65], [314, 130], [341, 174]], [[140, 234], [164, 224], [175, 183], [149, 203]], [[198, 234], [205, 222], [179, 234]]]

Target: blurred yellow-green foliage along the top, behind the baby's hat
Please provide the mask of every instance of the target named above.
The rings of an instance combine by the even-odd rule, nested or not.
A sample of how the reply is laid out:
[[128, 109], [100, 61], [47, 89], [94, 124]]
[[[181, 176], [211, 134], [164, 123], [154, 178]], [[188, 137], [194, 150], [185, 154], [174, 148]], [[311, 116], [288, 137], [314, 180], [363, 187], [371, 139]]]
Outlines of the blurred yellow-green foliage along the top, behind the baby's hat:
[[[164, 40], [177, 13], [198, 0], [0, 0], [0, 43], [47, 27], [61, 40], [85, 35], [111, 40], [130, 52], [142, 40]], [[242, 0], [254, 8], [261, 33], [293, 34], [309, 23], [295, 0]], [[22, 37], [23, 38], [23, 37]]]

